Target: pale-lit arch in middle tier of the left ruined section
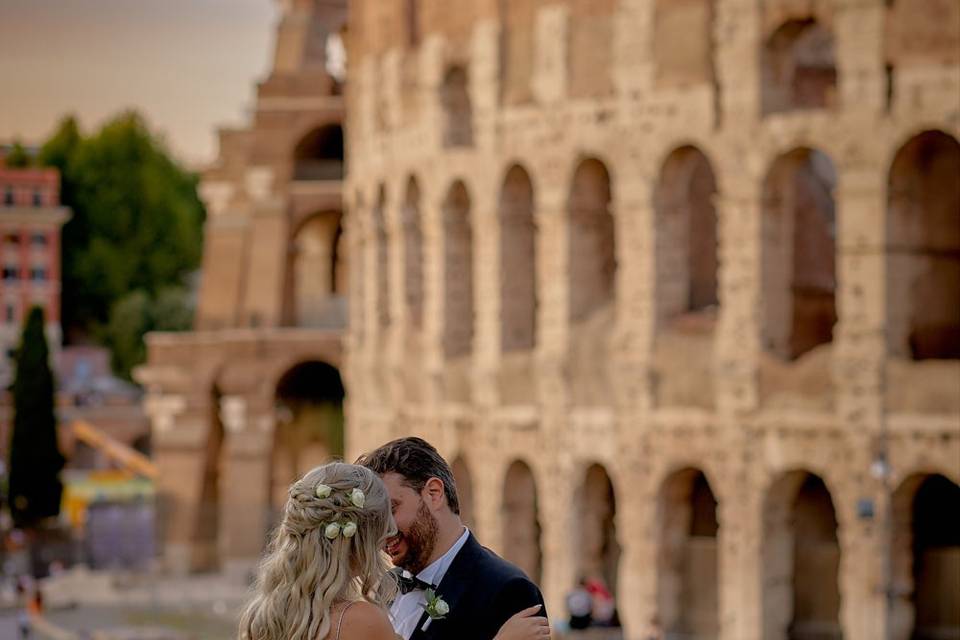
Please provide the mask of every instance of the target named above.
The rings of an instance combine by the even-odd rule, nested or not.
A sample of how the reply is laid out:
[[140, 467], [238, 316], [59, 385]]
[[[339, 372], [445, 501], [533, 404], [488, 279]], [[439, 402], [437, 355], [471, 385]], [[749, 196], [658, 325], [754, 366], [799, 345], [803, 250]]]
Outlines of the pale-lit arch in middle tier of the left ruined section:
[[290, 248], [290, 315], [295, 326], [345, 325], [342, 236], [339, 211], [313, 215], [297, 229]]

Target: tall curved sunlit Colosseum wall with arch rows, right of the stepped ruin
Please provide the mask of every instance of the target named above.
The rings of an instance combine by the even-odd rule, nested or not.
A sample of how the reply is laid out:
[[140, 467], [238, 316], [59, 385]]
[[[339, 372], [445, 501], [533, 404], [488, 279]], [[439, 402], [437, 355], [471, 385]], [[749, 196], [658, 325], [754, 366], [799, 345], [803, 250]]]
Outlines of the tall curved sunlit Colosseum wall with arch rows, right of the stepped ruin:
[[[890, 496], [960, 481], [953, 254], [910, 236], [915, 265], [942, 262], [912, 299], [938, 304], [895, 293], [898, 194], [937, 194], [904, 196], [920, 228], [960, 220], [922, 163], [891, 177], [911, 139], [942, 171], [960, 146], [952, 27], [895, 18], [921, 5], [351, 3], [348, 457], [415, 433], [461, 460], [474, 529], [537, 567], [557, 616], [589, 570], [615, 580], [629, 638], [657, 617], [698, 638], [906, 640], [914, 581], [948, 589], [888, 568], [891, 531], [892, 564], [911, 563], [911, 507]], [[445, 91], [454, 67], [469, 108]], [[468, 319], [448, 271], [461, 183]], [[933, 325], [933, 359], [891, 334]], [[452, 334], [472, 336], [455, 360]], [[715, 532], [687, 528], [705, 495]]]

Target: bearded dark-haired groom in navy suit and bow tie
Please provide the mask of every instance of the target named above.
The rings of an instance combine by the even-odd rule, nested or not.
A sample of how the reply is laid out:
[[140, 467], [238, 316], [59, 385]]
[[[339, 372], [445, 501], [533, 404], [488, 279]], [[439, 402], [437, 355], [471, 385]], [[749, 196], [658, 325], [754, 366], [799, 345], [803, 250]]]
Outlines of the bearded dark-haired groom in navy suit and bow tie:
[[390, 618], [400, 637], [492, 640], [512, 615], [543, 605], [523, 571], [482, 547], [463, 525], [453, 472], [428, 442], [394, 440], [357, 464], [379, 474], [390, 493], [398, 531], [386, 551], [400, 581]]

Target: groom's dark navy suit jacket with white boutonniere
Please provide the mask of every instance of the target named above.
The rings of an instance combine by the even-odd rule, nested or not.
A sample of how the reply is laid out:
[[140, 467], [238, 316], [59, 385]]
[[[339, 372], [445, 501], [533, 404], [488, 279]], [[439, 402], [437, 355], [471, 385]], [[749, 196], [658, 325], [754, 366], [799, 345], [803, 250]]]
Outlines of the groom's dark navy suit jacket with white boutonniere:
[[[543, 604], [543, 595], [523, 571], [480, 545], [470, 534], [443, 579], [437, 594], [450, 613], [421, 631], [420, 616], [410, 640], [492, 640], [513, 614]], [[546, 607], [537, 615], [547, 615]]]

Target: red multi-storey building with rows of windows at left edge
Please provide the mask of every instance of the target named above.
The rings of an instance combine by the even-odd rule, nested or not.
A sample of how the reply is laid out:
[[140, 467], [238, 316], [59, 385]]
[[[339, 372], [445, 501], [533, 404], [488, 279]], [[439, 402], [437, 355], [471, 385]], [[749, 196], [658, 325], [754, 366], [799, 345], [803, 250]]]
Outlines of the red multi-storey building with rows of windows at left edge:
[[0, 159], [0, 385], [10, 381], [9, 353], [31, 307], [43, 307], [59, 350], [60, 229], [69, 217], [56, 169], [14, 169]]

